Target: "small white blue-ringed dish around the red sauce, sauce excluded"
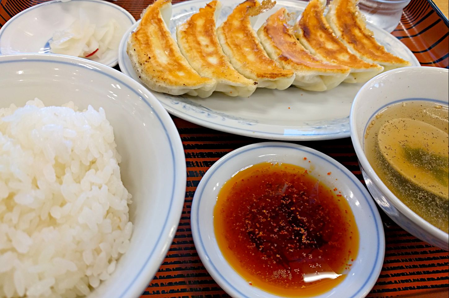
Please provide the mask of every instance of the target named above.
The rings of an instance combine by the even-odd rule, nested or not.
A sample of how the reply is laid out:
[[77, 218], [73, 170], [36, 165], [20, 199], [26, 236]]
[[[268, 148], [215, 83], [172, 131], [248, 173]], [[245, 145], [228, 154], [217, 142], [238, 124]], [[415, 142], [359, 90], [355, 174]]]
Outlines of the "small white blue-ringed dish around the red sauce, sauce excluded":
[[[301, 166], [328, 187], [337, 187], [342, 192], [356, 219], [359, 252], [348, 276], [335, 288], [315, 297], [365, 297], [379, 276], [385, 252], [383, 226], [376, 205], [361, 182], [343, 165], [319, 151], [291, 143], [264, 142], [241, 147], [220, 158], [202, 177], [190, 216], [195, 247], [207, 271], [234, 298], [280, 297], [249, 285], [234, 271], [221, 253], [214, 233], [213, 210], [223, 184], [247, 166], [267, 161]], [[328, 172], [331, 174], [327, 175]]]

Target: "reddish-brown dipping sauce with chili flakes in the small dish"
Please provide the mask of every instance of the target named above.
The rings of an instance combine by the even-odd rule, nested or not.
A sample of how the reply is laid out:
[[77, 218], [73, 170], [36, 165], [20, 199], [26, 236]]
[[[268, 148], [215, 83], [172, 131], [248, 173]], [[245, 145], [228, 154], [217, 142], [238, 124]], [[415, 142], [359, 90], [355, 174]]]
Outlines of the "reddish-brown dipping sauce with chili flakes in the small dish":
[[335, 287], [359, 246], [354, 215], [338, 189], [289, 164], [261, 163], [229, 179], [217, 197], [214, 229], [234, 270], [280, 296]]

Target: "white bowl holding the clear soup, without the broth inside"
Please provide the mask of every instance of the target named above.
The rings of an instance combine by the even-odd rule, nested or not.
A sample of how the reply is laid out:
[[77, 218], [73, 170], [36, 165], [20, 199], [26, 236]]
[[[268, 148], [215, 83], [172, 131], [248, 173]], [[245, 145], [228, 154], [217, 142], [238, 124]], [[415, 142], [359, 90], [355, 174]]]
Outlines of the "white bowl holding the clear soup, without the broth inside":
[[449, 71], [439, 67], [407, 67], [393, 69], [369, 80], [357, 93], [351, 108], [352, 145], [360, 169], [374, 200], [382, 210], [413, 236], [449, 249], [449, 235], [419, 217], [399, 200], [374, 172], [363, 151], [364, 133], [368, 121], [392, 103], [431, 101], [448, 106]]

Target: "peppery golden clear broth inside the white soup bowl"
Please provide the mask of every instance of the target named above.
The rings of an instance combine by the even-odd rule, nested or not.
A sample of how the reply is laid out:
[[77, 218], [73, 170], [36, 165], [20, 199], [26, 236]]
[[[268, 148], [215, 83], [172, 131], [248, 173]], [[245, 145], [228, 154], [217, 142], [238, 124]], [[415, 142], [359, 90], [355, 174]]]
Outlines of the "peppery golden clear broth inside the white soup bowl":
[[[401, 123], [398, 120], [404, 119], [418, 120], [425, 124], [421, 126], [421, 130], [415, 129], [413, 133], [401, 130], [401, 125], [391, 125], [392, 123]], [[448, 142], [447, 137], [432, 138], [432, 130], [428, 130], [430, 127], [428, 125], [440, 129], [447, 135], [448, 120], [447, 106], [429, 101], [399, 102], [376, 114], [367, 125], [364, 135], [365, 155], [379, 178], [405, 205], [446, 233], [448, 233], [449, 217]], [[414, 121], [414, 123], [418, 122]], [[391, 147], [387, 148], [385, 146], [387, 143], [383, 142], [386, 137], [382, 134], [385, 134], [386, 127], [390, 128], [388, 131], [389, 141], [394, 150]], [[442, 135], [444, 136], [444, 134]], [[413, 146], [409, 146], [405, 138], [413, 139]], [[417, 140], [420, 142], [419, 145], [417, 145]], [[381, 142], [382, 148], [379, 146], [379, 142]], [[436, 143], [440, 148], [438, 154], [429, 149], [430, 147], [435, 148]], [[429, 145], [431, 146], [429, 147]], [[388, 156], [388, 152], [391, 153], [390, 156]], [[398, 160], [396, 156], [398, 152], [402, 156], [401, 163], [394, 163], [392, 158]], [[410, 169], [416, 171], [419, 177], [416, 178], [416, 175], [415, 179], [407, 177], [404, 174], [405, 167], [409, 167], [409, 172]], [[405, 170], [403, 171], [403, 169]], [[431, 183], [424, 184], [424, 180], [430, 179], [432, 179]], [[438, 186], [439, 191], [433, 190], [432, 185]]]

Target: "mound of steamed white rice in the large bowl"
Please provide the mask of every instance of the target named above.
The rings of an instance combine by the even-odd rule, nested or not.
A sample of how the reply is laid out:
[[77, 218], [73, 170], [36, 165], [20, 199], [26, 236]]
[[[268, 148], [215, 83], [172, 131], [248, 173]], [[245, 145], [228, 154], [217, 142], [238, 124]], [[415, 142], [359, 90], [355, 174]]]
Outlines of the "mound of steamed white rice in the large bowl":
[[129, 246], [131, 195], [105, 111], [0, 109], [0, 297], [88, 295]]

